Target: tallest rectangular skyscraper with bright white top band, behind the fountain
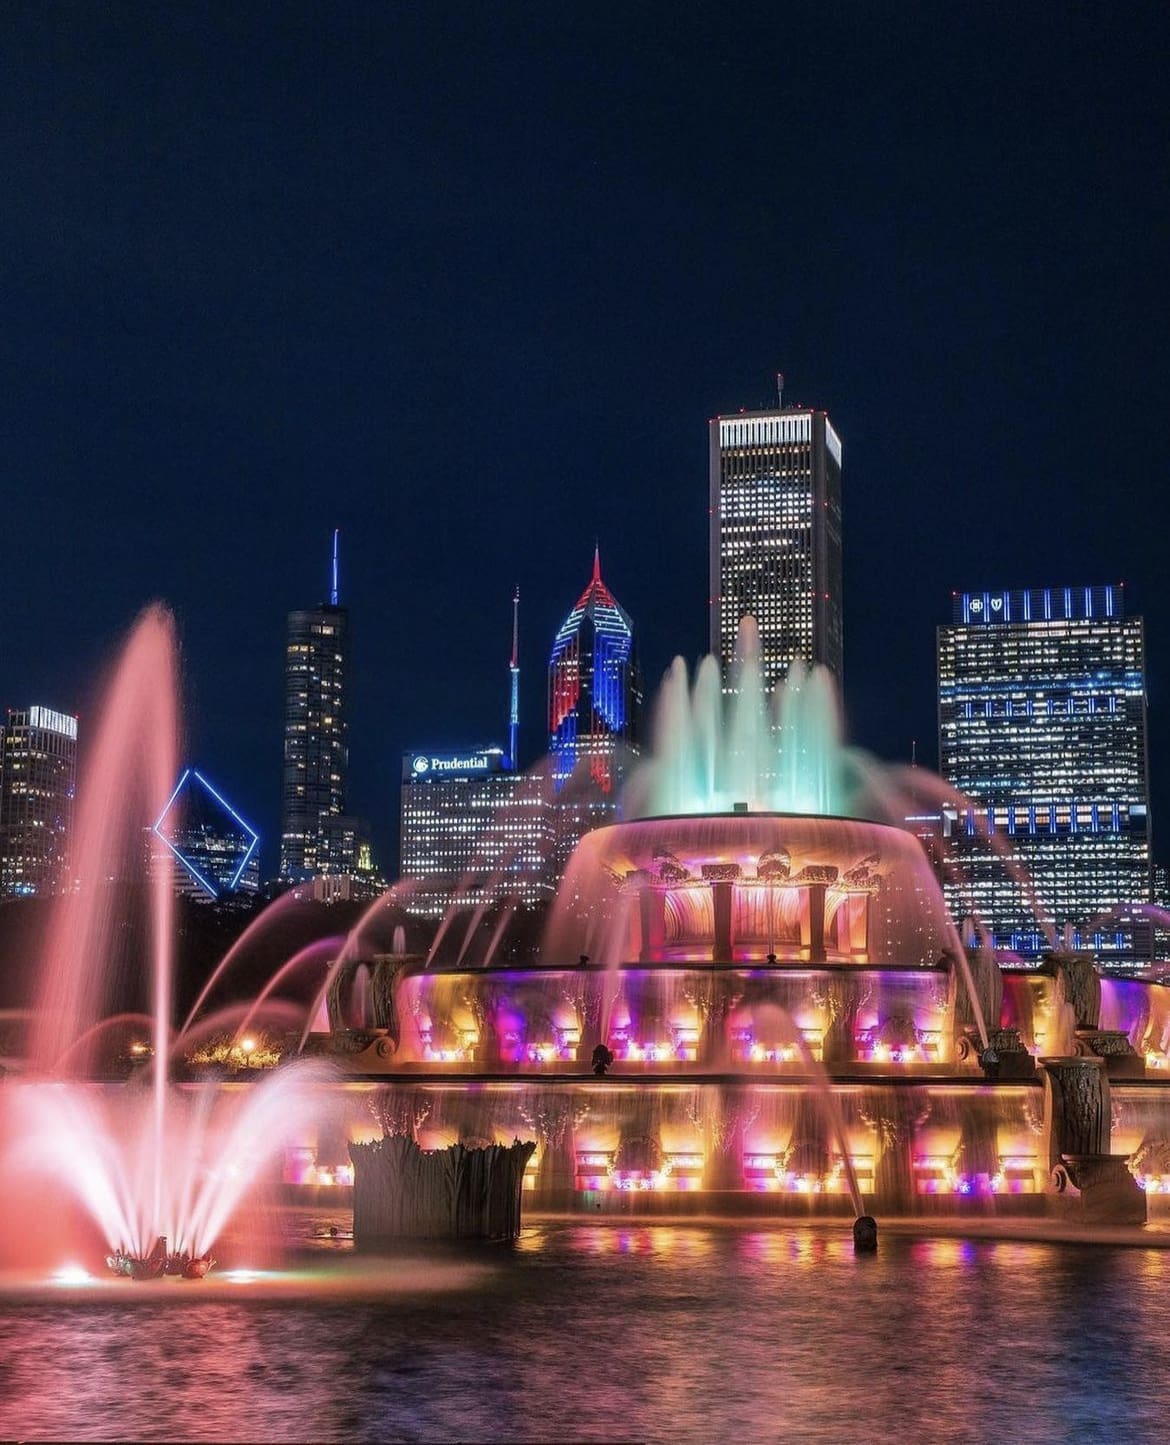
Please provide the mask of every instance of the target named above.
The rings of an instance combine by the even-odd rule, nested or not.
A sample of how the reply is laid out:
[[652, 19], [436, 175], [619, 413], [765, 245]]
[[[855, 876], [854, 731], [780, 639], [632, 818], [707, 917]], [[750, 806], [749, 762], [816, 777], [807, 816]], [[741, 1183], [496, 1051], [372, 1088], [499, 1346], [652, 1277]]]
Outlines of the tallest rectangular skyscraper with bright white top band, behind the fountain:
[[711, 652], [725, 685], [747, 616], [768, 691], [794, 657], [839, 682], [841, 439], [828, 413], [777, 405], [716, 416], [709, 431]]

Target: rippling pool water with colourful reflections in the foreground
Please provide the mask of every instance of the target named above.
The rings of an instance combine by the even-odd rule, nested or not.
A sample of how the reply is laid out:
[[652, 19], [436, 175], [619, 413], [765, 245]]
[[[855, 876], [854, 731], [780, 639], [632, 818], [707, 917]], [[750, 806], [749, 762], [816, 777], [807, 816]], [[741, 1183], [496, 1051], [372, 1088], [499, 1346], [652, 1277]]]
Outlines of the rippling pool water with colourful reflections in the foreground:
[[514, 1250], [9, 1290], [0, 1435], [1163, 1436], [1164, 1254], [540, 1222]]

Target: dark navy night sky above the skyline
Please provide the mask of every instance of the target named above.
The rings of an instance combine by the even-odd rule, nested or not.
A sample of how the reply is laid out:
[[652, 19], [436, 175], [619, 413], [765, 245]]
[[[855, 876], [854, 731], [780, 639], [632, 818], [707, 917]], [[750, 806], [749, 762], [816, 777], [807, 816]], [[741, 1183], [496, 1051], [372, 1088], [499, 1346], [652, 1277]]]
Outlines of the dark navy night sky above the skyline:
[[[175, 610], [186, 753], [279, 831], [285, 614], [351, 608], [351, 798], [521, 753], [602, 571], [706, 649], [706, 422], [844, 439], [852, 741], [936, 759], [952, 590], [1124, 581], [1170, 805], [1170, 12], [10, 4], [0, 705]], [[84, 725], [84, 722], [82, 722]], [[1163, 834], [1156, 853], [1166, 858]]]

